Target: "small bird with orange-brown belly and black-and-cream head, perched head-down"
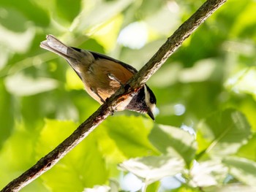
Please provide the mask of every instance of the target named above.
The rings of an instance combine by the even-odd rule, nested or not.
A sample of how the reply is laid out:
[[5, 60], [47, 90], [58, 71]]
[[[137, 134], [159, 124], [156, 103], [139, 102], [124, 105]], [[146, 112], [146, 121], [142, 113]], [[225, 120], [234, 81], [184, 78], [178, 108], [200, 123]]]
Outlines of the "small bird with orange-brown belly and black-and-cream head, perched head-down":
[[[83, 81], [87, 93], [99, 104], [104, 103], [137, 72], [132, 66], [106, 55], [68, 47], [53, 35], [48, 35], [40, 47], [65, 58]], [[156, 103], [154, 93], [144, 85], [138, 93], [118, 105], [116, 110], [147, 113], [154, 120], [153, 110]]]

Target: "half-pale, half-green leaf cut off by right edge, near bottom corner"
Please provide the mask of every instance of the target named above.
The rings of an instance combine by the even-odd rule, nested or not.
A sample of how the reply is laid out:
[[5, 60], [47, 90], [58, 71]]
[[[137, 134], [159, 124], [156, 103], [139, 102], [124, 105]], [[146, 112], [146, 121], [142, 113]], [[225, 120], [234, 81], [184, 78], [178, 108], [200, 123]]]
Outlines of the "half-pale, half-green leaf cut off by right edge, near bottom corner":
[[256, 162], [246, 158], [227, 157], [223, 161], [229, 172], [246, 185], [256, 187]]

